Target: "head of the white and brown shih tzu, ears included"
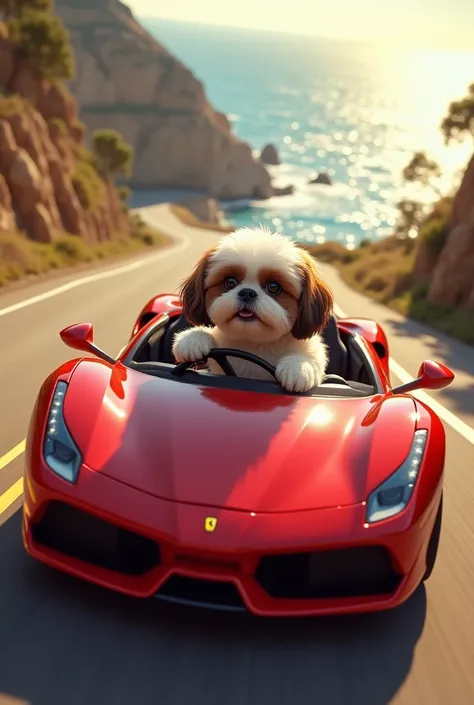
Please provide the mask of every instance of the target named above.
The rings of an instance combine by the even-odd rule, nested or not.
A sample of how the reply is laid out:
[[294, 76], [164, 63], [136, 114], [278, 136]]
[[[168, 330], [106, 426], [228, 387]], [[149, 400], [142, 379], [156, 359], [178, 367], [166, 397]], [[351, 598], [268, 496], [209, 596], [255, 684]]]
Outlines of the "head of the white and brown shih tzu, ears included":
[[181, 287], [183, 313], [230, 339], [310, 338], [327, 323], [332, 295], [313, 258], [283, 235], [242, 228], [206, 252]]

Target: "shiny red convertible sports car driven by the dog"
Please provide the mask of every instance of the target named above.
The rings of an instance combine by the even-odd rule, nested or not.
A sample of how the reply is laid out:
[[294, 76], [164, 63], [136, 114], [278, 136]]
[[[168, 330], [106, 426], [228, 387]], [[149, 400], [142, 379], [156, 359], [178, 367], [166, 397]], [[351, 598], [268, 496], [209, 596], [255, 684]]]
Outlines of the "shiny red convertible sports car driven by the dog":
[[[441, 530], [445, 433], [411, 396], [453, 373], [424, 362], [392, 389], [374, 321], [332, 318], [321, 385], [289, 394], [235, 376], [232, 349], [176, 365], [179, 299], [143, 309], [117, 359], [87, 357], [39, 392], [26, 448], [23, 537], [35, 558], [107, 588], [257, 615], [395, 607], [426, 580]], [[94, 357], [91, 357], [94, 356]]]

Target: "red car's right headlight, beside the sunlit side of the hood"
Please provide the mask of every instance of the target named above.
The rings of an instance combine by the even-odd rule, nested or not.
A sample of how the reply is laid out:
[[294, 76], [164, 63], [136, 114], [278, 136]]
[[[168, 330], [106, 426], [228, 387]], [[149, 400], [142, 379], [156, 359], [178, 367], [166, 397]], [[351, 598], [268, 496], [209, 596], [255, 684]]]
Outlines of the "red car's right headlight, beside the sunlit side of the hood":
[[372, 492], [367, 500], [367, 522], [373, 524], [395, 516], [407, 506], [418, 478], [428, 431], [415, 431], [408, 457]]

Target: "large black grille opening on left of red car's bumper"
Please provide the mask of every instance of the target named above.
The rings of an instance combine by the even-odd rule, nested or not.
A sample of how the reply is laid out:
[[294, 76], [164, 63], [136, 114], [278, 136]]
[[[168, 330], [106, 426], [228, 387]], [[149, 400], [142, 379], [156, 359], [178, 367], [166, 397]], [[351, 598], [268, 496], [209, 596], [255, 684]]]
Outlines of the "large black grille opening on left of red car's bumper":
[[160, 563], [154, 541], [63, 502], [51, 502], [32, 533], [46, 548], [124, 575], [144, 575]]

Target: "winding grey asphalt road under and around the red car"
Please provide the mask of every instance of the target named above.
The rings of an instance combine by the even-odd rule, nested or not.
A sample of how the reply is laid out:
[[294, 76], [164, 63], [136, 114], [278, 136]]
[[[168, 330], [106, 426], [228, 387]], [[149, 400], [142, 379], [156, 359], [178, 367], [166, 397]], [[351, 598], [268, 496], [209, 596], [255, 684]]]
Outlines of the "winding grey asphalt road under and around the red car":
[[[179, 232], [171, 219], [167, 228]], [[74, 355], [58, 331], [91, 320], [97, 343], [116, 353], [144, 302], [175, 290], [214, 240], [190, 231], [179, 251], [120, 276], [96, 270], [89, 283], [20, 309], [78, 275], [0, 298], [0, 468], [25, 437], [44, 377]], [[458, 421], [445, 413], [456, 430], [446, 425], [444, 529], [426, 590], [389, 613], [294, 621], [136, 601], [28, 558], [18, 499], [0, 515], [0, 693], [31, 705], [474, 705], [474, 445], [463, 425], [474, 426], [474, 351], [325, 273], [343, 311], [382, 321], [406, 372], [436, 358], [458, 375], [433, 397]], [[21, 455], [0, 469], [0, 497], [21, 470]]]

